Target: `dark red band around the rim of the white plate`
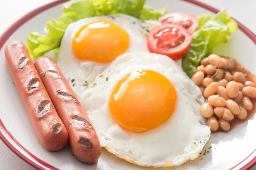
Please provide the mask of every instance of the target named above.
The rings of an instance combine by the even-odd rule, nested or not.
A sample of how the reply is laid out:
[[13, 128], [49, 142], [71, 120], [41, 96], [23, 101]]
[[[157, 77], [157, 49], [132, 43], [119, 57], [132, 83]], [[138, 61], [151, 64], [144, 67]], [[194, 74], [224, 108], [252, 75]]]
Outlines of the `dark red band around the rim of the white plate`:
[[[29, 12], [28, 14], [21, 17], [19, 20], [17, 20], [12, 26], [10, 26], [0, 37], [0, 50], [3, 48], [3, 45], [6, 43], [6, 41], [9, 39], [9, 37], [18, 29], [20, 26], [25, 24], [27, 21], [31, 20], [36, 15], [40, 14], [43, 11], [46, 11], [49, 8], [52, 8], [54, 6], [57, 6], [61, 3], [67, 2], [68, 0], [55, 0], [52, 3], [48, 3], [44, 6], [41, 6], [39, 8], [34, 9], [33, 11]], [[212, 11], [214, 13], [217, 13], [219, 10], [209, 6], [205, 3], [201, 3], [197, 0], [182, 0], [187, 3], [192, 3], [196, 6], [200, 6], [201, 8], [205, 8], [209, 11]], [[238, 23], [239, 29], [247, 35], [247, 37], [250, 38], [256, 45], [256, 35], [253, 34], [252, 31], [250, 31], [247, 27], [245, 27], [243, 24], [241, 24], [239, 21], [236, 20]], [[50, 164], [47, 164], [43, 160], [37, 158], [32, 153], [30, 153], [28, 150], [26, 150], [19, 142], [15, 140], [15, 138], [12, 136], [12, 134], [6, 129], [5, 125], [3, 124], [2, 120], [0, 119], [0, 139], [6, 144], [7, 147], [9, 147], [12, 152], [14, 152], [17, 156], [19, 156], [21, 159], [26, 161], [28, 164], [32, 165], [33, 167], [39, 169], [39, 170], [58, 170], [58, 168], [53, 167]], [[244, 161], [246, 161], [256, 150], [253, 150], [253, 152], [247, 156], [243, 161], [241, 161], [236, 166], [232, 167], [230, 170], [234, 169], [235, 167], [242, 164]], [[252, 167], [254, 164], [256, 164], [256, 157], [254, 157], [252, 160], [250, 160], [247, 164], [245, 164], [243, 167], [240, 168], [240, 170], [248, 170], [250, 167]]]

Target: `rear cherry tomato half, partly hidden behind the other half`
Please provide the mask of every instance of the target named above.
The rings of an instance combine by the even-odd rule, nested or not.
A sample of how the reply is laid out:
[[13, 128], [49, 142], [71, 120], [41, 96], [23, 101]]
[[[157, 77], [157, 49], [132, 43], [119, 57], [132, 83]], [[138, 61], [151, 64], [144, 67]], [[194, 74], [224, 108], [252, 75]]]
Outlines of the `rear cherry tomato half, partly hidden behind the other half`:
[[183, 26], [189, 31], [189, 34], [195, 32], [199, 25], [198, 19], [193, 15], [187, 13], [165, 14], [159, 17], [158, 21], [160, 23], [169, 23]]

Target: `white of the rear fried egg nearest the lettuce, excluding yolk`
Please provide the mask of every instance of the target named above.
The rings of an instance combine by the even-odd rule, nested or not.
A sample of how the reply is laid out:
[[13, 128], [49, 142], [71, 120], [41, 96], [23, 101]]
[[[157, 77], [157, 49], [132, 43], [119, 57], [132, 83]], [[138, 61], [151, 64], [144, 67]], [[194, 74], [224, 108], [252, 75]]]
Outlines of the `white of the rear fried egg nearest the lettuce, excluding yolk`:
[[[148, 51], [146, 35], [151, 28], [160, 25], [157, 21], [144, 21], [125, 14], [111, 14], [109, 16], [88, 17], [71, 23], [61, 40], [57, 65], [70, 82], [75, 93], [80, 96], [87, 87], [92, 86], [94, 78], [110, 63], [97, 63], [79, 60], [73, 54], [72, 41], [77, 31], [88, 23], [108, 20], [124, 29], [130, 37], [130, 46], [126, 52]], [[101, 47], [99, 47], [101, 48]]]

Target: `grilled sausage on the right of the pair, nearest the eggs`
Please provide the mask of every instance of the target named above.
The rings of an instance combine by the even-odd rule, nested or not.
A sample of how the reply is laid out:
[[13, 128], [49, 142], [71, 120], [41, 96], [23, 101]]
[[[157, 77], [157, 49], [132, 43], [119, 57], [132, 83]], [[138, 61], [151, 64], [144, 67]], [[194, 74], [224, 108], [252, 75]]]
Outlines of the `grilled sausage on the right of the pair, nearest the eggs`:
[[47, 57], [36, 59], [35, 68], [67, 128], [73, 154], [81, 162], [96, 163], [101, 154], [99, 138], [64, 75], [55, 62]]

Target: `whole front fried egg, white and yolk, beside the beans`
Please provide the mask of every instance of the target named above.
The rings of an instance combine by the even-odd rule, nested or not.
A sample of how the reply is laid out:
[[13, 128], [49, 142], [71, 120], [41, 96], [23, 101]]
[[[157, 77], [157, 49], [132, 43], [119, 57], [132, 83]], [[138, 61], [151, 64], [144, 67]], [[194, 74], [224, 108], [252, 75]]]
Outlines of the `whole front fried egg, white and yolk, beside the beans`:
[[172, 59], [148, 52], [118, 57], [81, 97], [101, 146], [144, 167], [199, 157], [211, 133], [199, 111], [203, 102]]

